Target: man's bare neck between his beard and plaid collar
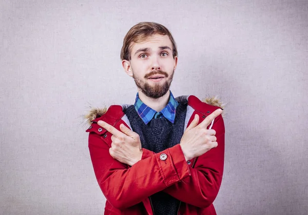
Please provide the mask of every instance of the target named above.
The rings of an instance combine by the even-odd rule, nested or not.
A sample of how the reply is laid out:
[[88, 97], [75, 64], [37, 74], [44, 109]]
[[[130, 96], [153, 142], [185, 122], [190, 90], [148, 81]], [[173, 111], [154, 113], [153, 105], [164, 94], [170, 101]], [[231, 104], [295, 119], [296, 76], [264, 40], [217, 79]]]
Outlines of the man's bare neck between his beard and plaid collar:
[[164, 94], [162, 97], [159, 97], [158, 99], [147, 97], [143, 92], [141, 92], [140, 89], [138, 89], [138, 93], [140, 100], [157, 112], [164, 109], [164, 107], [166, 107], [169, 102], [170, 90], [168, 90], [166, 94]]

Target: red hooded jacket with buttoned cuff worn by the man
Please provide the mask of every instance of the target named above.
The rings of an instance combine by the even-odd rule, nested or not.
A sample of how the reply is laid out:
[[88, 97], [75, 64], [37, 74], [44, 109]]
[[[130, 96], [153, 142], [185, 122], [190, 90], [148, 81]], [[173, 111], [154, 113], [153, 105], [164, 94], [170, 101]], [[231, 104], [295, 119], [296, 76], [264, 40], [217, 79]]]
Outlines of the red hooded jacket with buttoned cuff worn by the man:
[[[218, 108], [190, 95], [187, 126], [195, 114], [200, 123]], [[153, 214], [149, 196], [162, 190], [181, 201], [178, 214], [216, 214], [213, 201], [221, 185], [224, 164], [222, 116], [214, 120], [212, 127], [218, 146], [200, 157], [186, 162], [179, 144], [160, 153], [143, 148], [142, 159], [131, 167], [111, 157], [112, 134], [97, 124], [103, 120], [120, 130], [122, 123], [130, 127], [125, 118], [122, 106], [112, 105], [87, 129], [95, 176], [107, 199], [104, 214]], [[167, 155], [164, 161], [160, 159], [162, 153]]]

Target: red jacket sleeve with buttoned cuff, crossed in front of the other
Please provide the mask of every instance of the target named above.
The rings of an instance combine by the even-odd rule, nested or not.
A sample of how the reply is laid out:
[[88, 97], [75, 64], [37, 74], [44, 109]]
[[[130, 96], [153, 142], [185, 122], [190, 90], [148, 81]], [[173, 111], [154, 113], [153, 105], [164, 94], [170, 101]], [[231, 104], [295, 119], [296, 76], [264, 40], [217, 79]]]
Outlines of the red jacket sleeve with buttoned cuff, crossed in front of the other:
[[[190, 175], [184, 156], [174, 156], [182, 153], [180, 145], [152, 153], [130, 168], [113, 159], [109, 148], [103, 136], [90, 132], [89, 151], [95, 177], [107, 201], [114, 207], [122, 209], [136, 205]], [[166, 154], [166, 160], [160, 159], [162, 153]]]

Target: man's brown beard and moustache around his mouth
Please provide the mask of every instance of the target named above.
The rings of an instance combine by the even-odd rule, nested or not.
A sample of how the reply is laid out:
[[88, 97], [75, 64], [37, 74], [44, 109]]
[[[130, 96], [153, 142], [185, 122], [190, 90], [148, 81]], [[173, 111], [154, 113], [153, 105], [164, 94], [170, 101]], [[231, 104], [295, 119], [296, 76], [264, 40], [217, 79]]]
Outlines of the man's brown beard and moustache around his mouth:
[[143, 92], [147, 97], [150, 97], [152, 99], [158, 99], [159, 97], [162, 97], [164, 94], [166, 94], [170, 88], [173, 76], [174, 76], [175, 70], [171, 73], [169, 79], [168, 79], [168, 73], [157, 70], [157, 71], [151, 71], [150, 73], [146, 74], [144, 76], [145, 79], [148, 79], [149, 76], [155, 75], [155, 74], [162, 74], [165, 75], [166, 81], [161, 85], [161, 83], [154, 83], [154, 86], [149, 85], [146, 81], [142, 81], [138, 77], [132, 73], [132, 77], [134, 82], [136, 83], [137, 87]]

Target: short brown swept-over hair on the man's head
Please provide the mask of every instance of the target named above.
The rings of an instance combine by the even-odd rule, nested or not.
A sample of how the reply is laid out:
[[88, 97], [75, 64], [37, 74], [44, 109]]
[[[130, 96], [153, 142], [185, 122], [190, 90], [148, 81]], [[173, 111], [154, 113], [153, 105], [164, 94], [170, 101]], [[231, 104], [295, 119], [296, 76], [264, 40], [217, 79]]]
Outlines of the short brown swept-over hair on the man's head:
[[132, 26], [126, 33], [123, 46], [121, 49], [121, 60], [131, 60], [131, 46], [132, 43], [143, 42], [148, 36], [153, 34], [167, 35], [172, 43], [172, 55], [173, 57], [178, 56], [177, 45], [172, 37], [170, 31], [163, 25], [153, 22], [141, 22], [137, 25]]

